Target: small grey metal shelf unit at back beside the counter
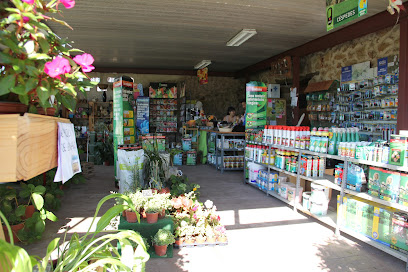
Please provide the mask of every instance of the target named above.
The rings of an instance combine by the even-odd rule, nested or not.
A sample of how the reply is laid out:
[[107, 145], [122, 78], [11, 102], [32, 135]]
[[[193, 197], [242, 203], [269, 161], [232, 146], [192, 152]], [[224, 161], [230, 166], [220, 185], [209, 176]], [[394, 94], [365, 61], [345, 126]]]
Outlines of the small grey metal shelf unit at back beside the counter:
[[[224, 173], [224, 171], [242, 171], [244, 168], [226, 168], [224, 167], [224, 156], [225, 152], [234, 152], [234, 154], [237, 154], [238, 152], [244, 152], [245, 148], [224, 148], [224, 140], [225, 137], [231, 137], [232, 139], [244, 139], [245, 138], [245, 133], [244, 132], [220, 132], [220, 131], [210, 131], [210, 133], [215, 133], [215, 151], [214, 154], [216, 156], [215, 159], [215, 168], [217, 170], [220, 170], [221, 173]], [[221, 140], [221, 146], [220, 148], [217, 145], [217, 139]], [[218, 154], [220, 155], [221, 162], [218, 163]]]

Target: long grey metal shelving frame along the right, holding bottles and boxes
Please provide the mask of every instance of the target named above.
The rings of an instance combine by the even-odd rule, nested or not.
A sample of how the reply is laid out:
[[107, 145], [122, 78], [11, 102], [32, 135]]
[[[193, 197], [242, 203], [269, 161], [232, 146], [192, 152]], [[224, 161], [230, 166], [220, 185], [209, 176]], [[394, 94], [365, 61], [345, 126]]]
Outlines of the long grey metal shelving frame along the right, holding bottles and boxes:
[[[389, 201], [385, 201], [382, 200], [380, 198], [376, 198], [373, 197], [371, 195], [369, 195], [368, 193], [364, 193], [364, 192], [357, 192], [357, 191], [353, 191], [353, 190], [349, 190], [346, 189], [346, 184], [347, 184], [347, 168], [348, 168], [348, 162], [352, 162], [352, 163], [360, 163], [360, 164], [366, 164], [366, 165], [371, 165], [371, 166], [377, 166], [377, 167], [382, 167], [382, 168], [387, 168], [387, 169], [391, 169], [391, 170], [397, 170], [397, 171], [403, 171], [403, 172], [408, 172], [408, 167], [401, 167], [401, 166], [395, 166], [395, 165], [390, 165], [390, 164], [386, 164], [386, 163], [376, 163], [376, 162], [371, 162], [371, 161], [365, 161], [365, 160], [359, 160], [359, 159], [354, 159], [354, 158], [348, 158], [348, 157], [341, 157], [341, 156], [337, 156], [337, 155], [330, 155], [330, 154], [325, 154], [325, 153], [317, 153], [317, 152], [312, 152], [309, 150], [304, 150], [304, 149], [297, 149], [297, 148], [291, 148], [291, 147], [286, 147], [286, 146], [281, 146], [281, 145], [273, 145], [273, 144], [263, 144], [263, 143], [259, 143], [259, 142], [252, 142], [252, 141], [247, 141], [246, 144], [256, 144], [256, 145], [263, 145], [263, 146], [267, 146], [268, 147], [268, 157], [270, 156], [270, 152], [272, 150], [272, 148], [279, 148], [279, 149], [286, 149], [286, 150], [290, 150], [290, 151], [295, 151], [299, 153], [299, 157], [298, 157], [298, 170], [300, 169], [300, 158], [302, 155], [317, 155], [317, 156], [321, 156], [321, 157], [325, 157], [325, 158], [330, 158], [330, 159], [336, 159], [339, 161], [344, 161], [344, 171], [343, 171], [343, 180], [342, 180], [342, 184], [341, 186], [337, 185], [334, 183], [334, 176], [329, 176], [329, 175], [324, 175], [323, 178], [315, 178], [315, 177], [306, 177], [303, 175], [300, 175], [300, 171], [297, 171], [297, 173], [292, 173], [292, 172], [288, 172], [286, 170], [282, 170], [278, 167], [269, 165], [269, 159], [268, 159], [268, 164], [263, 164], [263, 163], [258, 163], [255, 162], [256, 164], [260, 164], [265, 166], [268, 169], [268, 173], [270, 172], [270, 170], [275, 170], [275, 171], [279, 171], [282, 173], [285, 173], [287, 175], [291, 175], [296, 177], [296, 191], [295, 191], [295, 197], [293, 201], [288, 201], [287, 199], [284, 199], [282, 197], [280, 197], [276, 192], [274, 191], [268, 191], [268, 190], [261, 190], [263, 192], [265, 192], [267, 195], [273, 196], [283, 202], [285, 202], [286, 204], [289, 204], [290, 206], [293, 207], [294, 211], [301, 211], [315, 219], [317, 219], [318, 221], [321, 221], [333, 228], [335, 228], [335, 232], [337, 235], [340, 235], [341, 232], [352, 236], [358, 240], [361, 240], [363, 242], [366, 242], [369, 245], [372, 245], [398, 259], [401, 259], [403, 261], [408, 261], [407, 259], [407, 254], [404, 254], [400, 251], [394, 250], [386, 245], [383, 245], [381, 243], [378, 243], [376, 241], [373, 241], [371, 239], [369, 239], [368, 237], [360, 234], [360, 233], [356, 233], [353, 230], [347, 229], [345, 227], [343, 227], [342, 225], [342, 212], [336, 212], [336, 211], [331, 211], [330, 207], [329, 210], [327, 211], [327, 215], [326, 216], [316, 216], [312, 213], [310, 213], [310, 211], [306, 210], [303, 208], [303, 206], [299, 203], [299, 199], [298, 199], [298, 192], [299, 192], [299, 188], [300, 188], [300, 180], [301, 179], [305, 179], [311, 182], [314, 182], [316, 184], [320, 184], [326, 187], [329, 187], [331, 189], [334, 189], [336, 191], [340, 192], [340, 199], [338, 201], [338, 207], [339, 209], [343, 209], [343, 198], [346, 194], [349, 195], [353, 195], [356, 197], [359, 197], [361, 199], [365, 199], [365, 200], [369, 200], [372, 202], [376, 202], [378, 204], [381, 205], [385, 205], [388, 207], [392, 207], [395, 209], [398, 209], [400, 211], [404, 211], [404, 212], [408, 212], [408, 207], [407, 206], [403, 206], [400, 205], [398, 203], [392, 203]], [[246, 162], [253, 162], [250, 159], [245, 158]], [[245, 173], [246, 174], [246, 173]], [[258, 186], [254, 183], [248, 182], [248, 180], [245, 178], [246, 175], [244, 174], [244, 182], [247, 184], [250, 184], [256, 188], [258, 188]], [[296, 203], [296, 204], [295, 204]], [[334, 220], [336, 219], [336, 220]], [[408, 271], [408, 263], [407, 263], [407, 271]]]

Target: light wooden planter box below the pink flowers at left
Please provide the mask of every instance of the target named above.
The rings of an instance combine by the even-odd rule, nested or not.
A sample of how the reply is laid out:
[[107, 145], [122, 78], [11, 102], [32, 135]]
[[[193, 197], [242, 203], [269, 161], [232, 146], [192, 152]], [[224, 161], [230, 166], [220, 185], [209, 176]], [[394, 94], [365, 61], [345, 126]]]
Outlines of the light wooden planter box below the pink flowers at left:
[[58, 122], [26, 113], [0, 115], [0, 182], [28, 180], [58, 165]]

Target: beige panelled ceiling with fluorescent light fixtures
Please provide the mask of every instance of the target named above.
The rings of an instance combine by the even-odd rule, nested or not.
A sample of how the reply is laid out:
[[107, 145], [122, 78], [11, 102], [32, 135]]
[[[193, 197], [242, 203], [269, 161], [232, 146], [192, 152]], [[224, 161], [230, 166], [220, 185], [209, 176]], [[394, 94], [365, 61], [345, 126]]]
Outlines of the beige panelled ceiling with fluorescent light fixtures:
[[[385, 0], [369, 0], [368, 15]], [[98, 68], [235, 72], [325, 34], [323, 0], [77, 0], [63, 19], [74, 31], [50, 23], [61, 37], [95, 57]], [[239, 47], [226, 42], [243, 28], [257, 35]]]

